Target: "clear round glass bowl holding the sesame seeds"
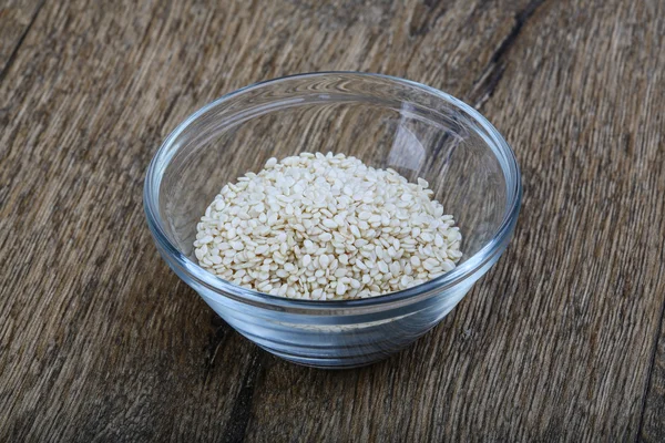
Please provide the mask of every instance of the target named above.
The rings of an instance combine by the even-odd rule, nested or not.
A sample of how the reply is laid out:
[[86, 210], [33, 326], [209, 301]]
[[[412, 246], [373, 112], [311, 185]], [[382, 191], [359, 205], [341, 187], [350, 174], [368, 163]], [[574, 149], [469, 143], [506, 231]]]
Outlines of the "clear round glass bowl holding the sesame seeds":
[[[427, 179], [462, 233], [458, 267], [348, 301], [275, 297], [198, 267], [196, 224], [226, 183], [269, 157], [328, 151]], [[258, 83], [193, 114], [153, 158], [144, 204], [162, 257], [239, 333], [296, 363], [348, 368], [405, 348], [450, 312], [505, 249], [521, 195], [511, 148], [471, 106], [402, 79], [326, 72]]]

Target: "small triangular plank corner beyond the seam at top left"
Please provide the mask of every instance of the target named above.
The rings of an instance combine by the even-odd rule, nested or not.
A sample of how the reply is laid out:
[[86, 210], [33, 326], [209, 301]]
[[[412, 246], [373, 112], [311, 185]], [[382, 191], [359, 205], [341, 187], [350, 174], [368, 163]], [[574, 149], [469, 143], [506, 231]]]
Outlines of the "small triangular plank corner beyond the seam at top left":
[[0, 2], [0, 81], [42, 7], [41, 0]]

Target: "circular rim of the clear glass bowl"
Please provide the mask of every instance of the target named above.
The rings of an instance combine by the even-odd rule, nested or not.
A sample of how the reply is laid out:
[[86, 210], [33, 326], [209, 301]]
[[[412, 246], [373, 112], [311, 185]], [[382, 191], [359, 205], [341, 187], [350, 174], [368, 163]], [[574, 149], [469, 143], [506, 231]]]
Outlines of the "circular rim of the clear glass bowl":
[[[369, 297], [365, 299], [351, 299], [351, 300], [309, 300], [309, 299], [291, 299], [286, 297], [273, 296], [265, 292], [259, 292], [253, 289], [243, 288], [241, 286], [234, 285], [228, 280], [224, 280], [212, 272], [200, 267], [196, 262], [185, 256], [167, 237], [162, 219], [158, 216], [158, 190], [160, 185], [162, 183], [163, 172], [165, 171], [165, 166], [173, 158], [177, 148], [172, 150], [171, 147], [174, 145], [174, 142], [177, 141], [178, 135], [185, 131], [192, 123], [194, 123], [201, 115], [205, 114], [213, 107], [222, 105], [224, 102], [228, 101], [232, 97], [241, 95], [243, 93], [270, 86], [277, 83], [282, 83], [288, 80], [295, 79], [311, 79], [318, 76], [326, 75], [347, 75], [347, 76], [359, 76], [362, 79], [381, 79], [388, 80], [390, 82], [396, 82], [401, 85], [406, 85], [409, 87], [415, 87], [427, 93], [433, 94], [439, 99], [450, 103], [451, 105], [463, 111], [468, 116], [470, 116], [474, 123], [480, 125], [485, 132], [487, 135], [491, 138], [494, 146], [490, 144], [490, 148], [494, 152], [498, 157], [498, 161], [501, 165], [502, 172], [504, 176], [507, 176], [507, 192], [510, 200], [507, 204], [507, 208], [503, 214], [503, 218], [501, 220], [500, 226], [494, 231], [492, 238], [487, 241], [473, 256], [469, 257], [460, 266], [456, 267], [453, 270], [446, 272], [432, 280], [428, 280], [421, 285], [407, 288], [396, 292], [389, 292], [382, 296]], [[500, 155], [503, 156], [503, 162], [500, 158]], [[163, 166], [163, 167], [162, 167]], [[509, 178], [512, 177], [513, 186], [510, 188]], [[278, 309], [278, 310], [288, 310], [290, 308], [295, 309], [305, 309], [311, 310], [316, 309], [323, 312], [334, 311], [334, 310], [349, 310], [354, 308], [367, 308], [367, 307], [378, 307], [385, 305], [399, 303], [403, 305], [405, 302], [409, 302], [412, 298], [423, 293], [430, 293], [433, 290], [440, 292], [446, 289], [450, 289], [459, 284], [461, 284], [467, 278], [473, 276], [479, 269], [481, 269], [487, 262], [489, 262], [497, 254], [501, 254], [503, 251], [503, 246], [510, 239], [510, 235], [515, 225], [518, 214], [520, 212], [522, 200], [522, 184], [521, 184], [521, 173], [520, 167], [518, 165], [515, 155], [510, 147], [510, 145], [505, 142], [503, 136], [494, 128], [494, 126], [478, 112], [474, 107], [468, 105], [454, 96], [437, 90], [434, 87], [428, 86], [422, 83], [418, 83], [411, 80], [406, 80], [392, 75], [378, 74], [378, 73], [369, 73], [369, 72], [357, 72], [357, 71], [321, 71], [321, 72], [307, 72], [299, 74], [291, 74], [279, 76], [276, 79], [270, 79], [257, 83], [249, 84], [245, 87], [241, 87], [236, 91], [222, 95], [221, 97], [207, 103], [203, 107], [198, 109], [196, 112], [191, 114], [187, 119], [185, 119], [181, 124], [173, 130], [165, 141], [160, 146], [157, 153], [153, 156], [150, 162], [150, 166], [147, 168], [144, 182], [143, 189], [143, 204], [145, 216], [147, 219], [149, 228], [155, 239], [158, 243], [157, 246], [161, 246], [162, 249], [175, 261], [168, 264], [173, 267], [174, 265], [182, 269], [187, 276], [198, 285], [206, 287], [215, 292], [216, 296], [219, 297], [231, 297], [238, 301], [248, 302], [250, 305], [259, 305], [265, 308]], [[166, 257], [165, 257], [166, 258]], [[176, 272], [177, 274], [177, 272]], [[350, 312], [349, 312], [350, 313]]]

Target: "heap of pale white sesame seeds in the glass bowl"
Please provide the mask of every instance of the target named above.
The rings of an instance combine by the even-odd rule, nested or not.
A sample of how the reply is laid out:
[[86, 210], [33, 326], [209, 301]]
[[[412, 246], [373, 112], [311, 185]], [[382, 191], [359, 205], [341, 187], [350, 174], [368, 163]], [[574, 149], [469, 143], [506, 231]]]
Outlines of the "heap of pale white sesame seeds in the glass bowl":
[[195, 255], [221, 278], [274, 296], [410, 288], [462, 256], [459, 228], [428, 186], [344, 154], [270, 158], [222, 188], [197, 225]]

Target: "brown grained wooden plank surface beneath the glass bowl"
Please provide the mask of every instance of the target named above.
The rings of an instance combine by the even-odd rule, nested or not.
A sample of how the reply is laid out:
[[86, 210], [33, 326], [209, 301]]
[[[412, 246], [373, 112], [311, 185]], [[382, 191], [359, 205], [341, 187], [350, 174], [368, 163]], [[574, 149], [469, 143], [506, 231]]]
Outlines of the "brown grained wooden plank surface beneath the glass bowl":
[[[665, 2], [0, 2], [1, 441], [665, 441]], [[160, 259], [145, 168], [212, 99], [405, 76], [523, 173], [515, 238], [443, 322], [326, 372]]]

